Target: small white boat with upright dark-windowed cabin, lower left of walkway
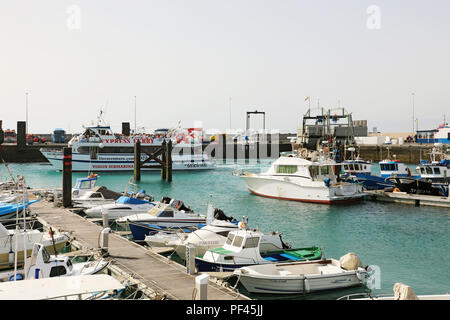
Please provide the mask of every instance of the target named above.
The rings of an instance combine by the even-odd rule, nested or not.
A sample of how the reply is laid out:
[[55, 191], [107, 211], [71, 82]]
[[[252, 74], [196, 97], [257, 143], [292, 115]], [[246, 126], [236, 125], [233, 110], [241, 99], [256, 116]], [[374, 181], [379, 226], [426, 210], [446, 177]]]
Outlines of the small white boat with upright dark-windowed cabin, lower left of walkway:
[[[35, 243], [31, 257], [27, 261], [27, 271], [8, 271], [0, 274], [0, 281], [14, 279], [39, 279], [51, 277], [69, 277], [79, 275], [97, 274], [105, 270], [109, 262], [104, 259], [97, 261], [72, 263], [68, 256], [50, 255], [42, 243]], [[26, 277], [25, 277], [26, 273]]]

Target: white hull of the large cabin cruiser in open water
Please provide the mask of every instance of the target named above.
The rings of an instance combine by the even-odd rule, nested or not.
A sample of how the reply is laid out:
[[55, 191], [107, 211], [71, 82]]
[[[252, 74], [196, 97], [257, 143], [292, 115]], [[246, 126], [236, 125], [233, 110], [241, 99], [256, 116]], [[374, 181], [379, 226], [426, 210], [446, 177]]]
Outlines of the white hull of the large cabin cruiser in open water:
[[339, 187], [323, 185], [298, 185], [281, 179], [264, 178], [258, 176], [241, 176], [248, 190], [258, 196], [310, 202], [319, 204], [346, 204], [361, 200], [364, 197], [361, 187], [356, 184], [346, 184]]

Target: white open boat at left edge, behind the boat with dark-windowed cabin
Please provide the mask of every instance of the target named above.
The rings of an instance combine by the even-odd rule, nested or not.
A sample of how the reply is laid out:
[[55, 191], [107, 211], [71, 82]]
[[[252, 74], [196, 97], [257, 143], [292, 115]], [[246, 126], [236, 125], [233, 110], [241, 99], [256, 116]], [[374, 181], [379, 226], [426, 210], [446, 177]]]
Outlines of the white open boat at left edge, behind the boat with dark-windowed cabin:
[[[14, 266], [14, 253], [17, 252], [18, 265], [24, 263], [24, 249], [27, 257], [31, 255], [35, 243], [41, 243], [50, 252], [60, 252], [65, 247], [69, 236], [65, 233], [41, 232], [39, 230], [8, 230], [0, 223], [0, 269], [9, 269]], [[16, 251], [17, 249], [17, 251]]]

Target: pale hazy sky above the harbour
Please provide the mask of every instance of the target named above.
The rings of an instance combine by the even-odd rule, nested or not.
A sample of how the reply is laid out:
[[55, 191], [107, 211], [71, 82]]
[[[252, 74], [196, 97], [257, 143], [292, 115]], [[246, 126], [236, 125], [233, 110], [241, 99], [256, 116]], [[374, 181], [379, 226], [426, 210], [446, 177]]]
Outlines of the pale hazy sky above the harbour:
[[370, 130], [411, 131], [412, 92], [420, 129], [450, 118], [448, 0], [2, 0], [0, 41], [3, 128], [25, 120], [25, 92], [38, 133], [100, 108], [133, 128], [134, 96], [148, 130], [228, 128], [230, 97], [232, 128], [257, 109], [295, 132], [307, 96]]

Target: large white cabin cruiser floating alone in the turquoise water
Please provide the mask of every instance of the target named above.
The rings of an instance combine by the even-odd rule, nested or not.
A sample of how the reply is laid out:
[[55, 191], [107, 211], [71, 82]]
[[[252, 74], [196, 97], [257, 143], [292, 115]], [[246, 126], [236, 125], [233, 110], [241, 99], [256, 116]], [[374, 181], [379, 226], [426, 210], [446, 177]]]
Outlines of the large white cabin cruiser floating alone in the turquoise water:
[[338, 166], [332, 159], [282, 154], [264, 173], [238, 174], [248, 190], [259, 196], [321, 204], [344, 204], [361, 200], [362, 186], [338, 181]]

